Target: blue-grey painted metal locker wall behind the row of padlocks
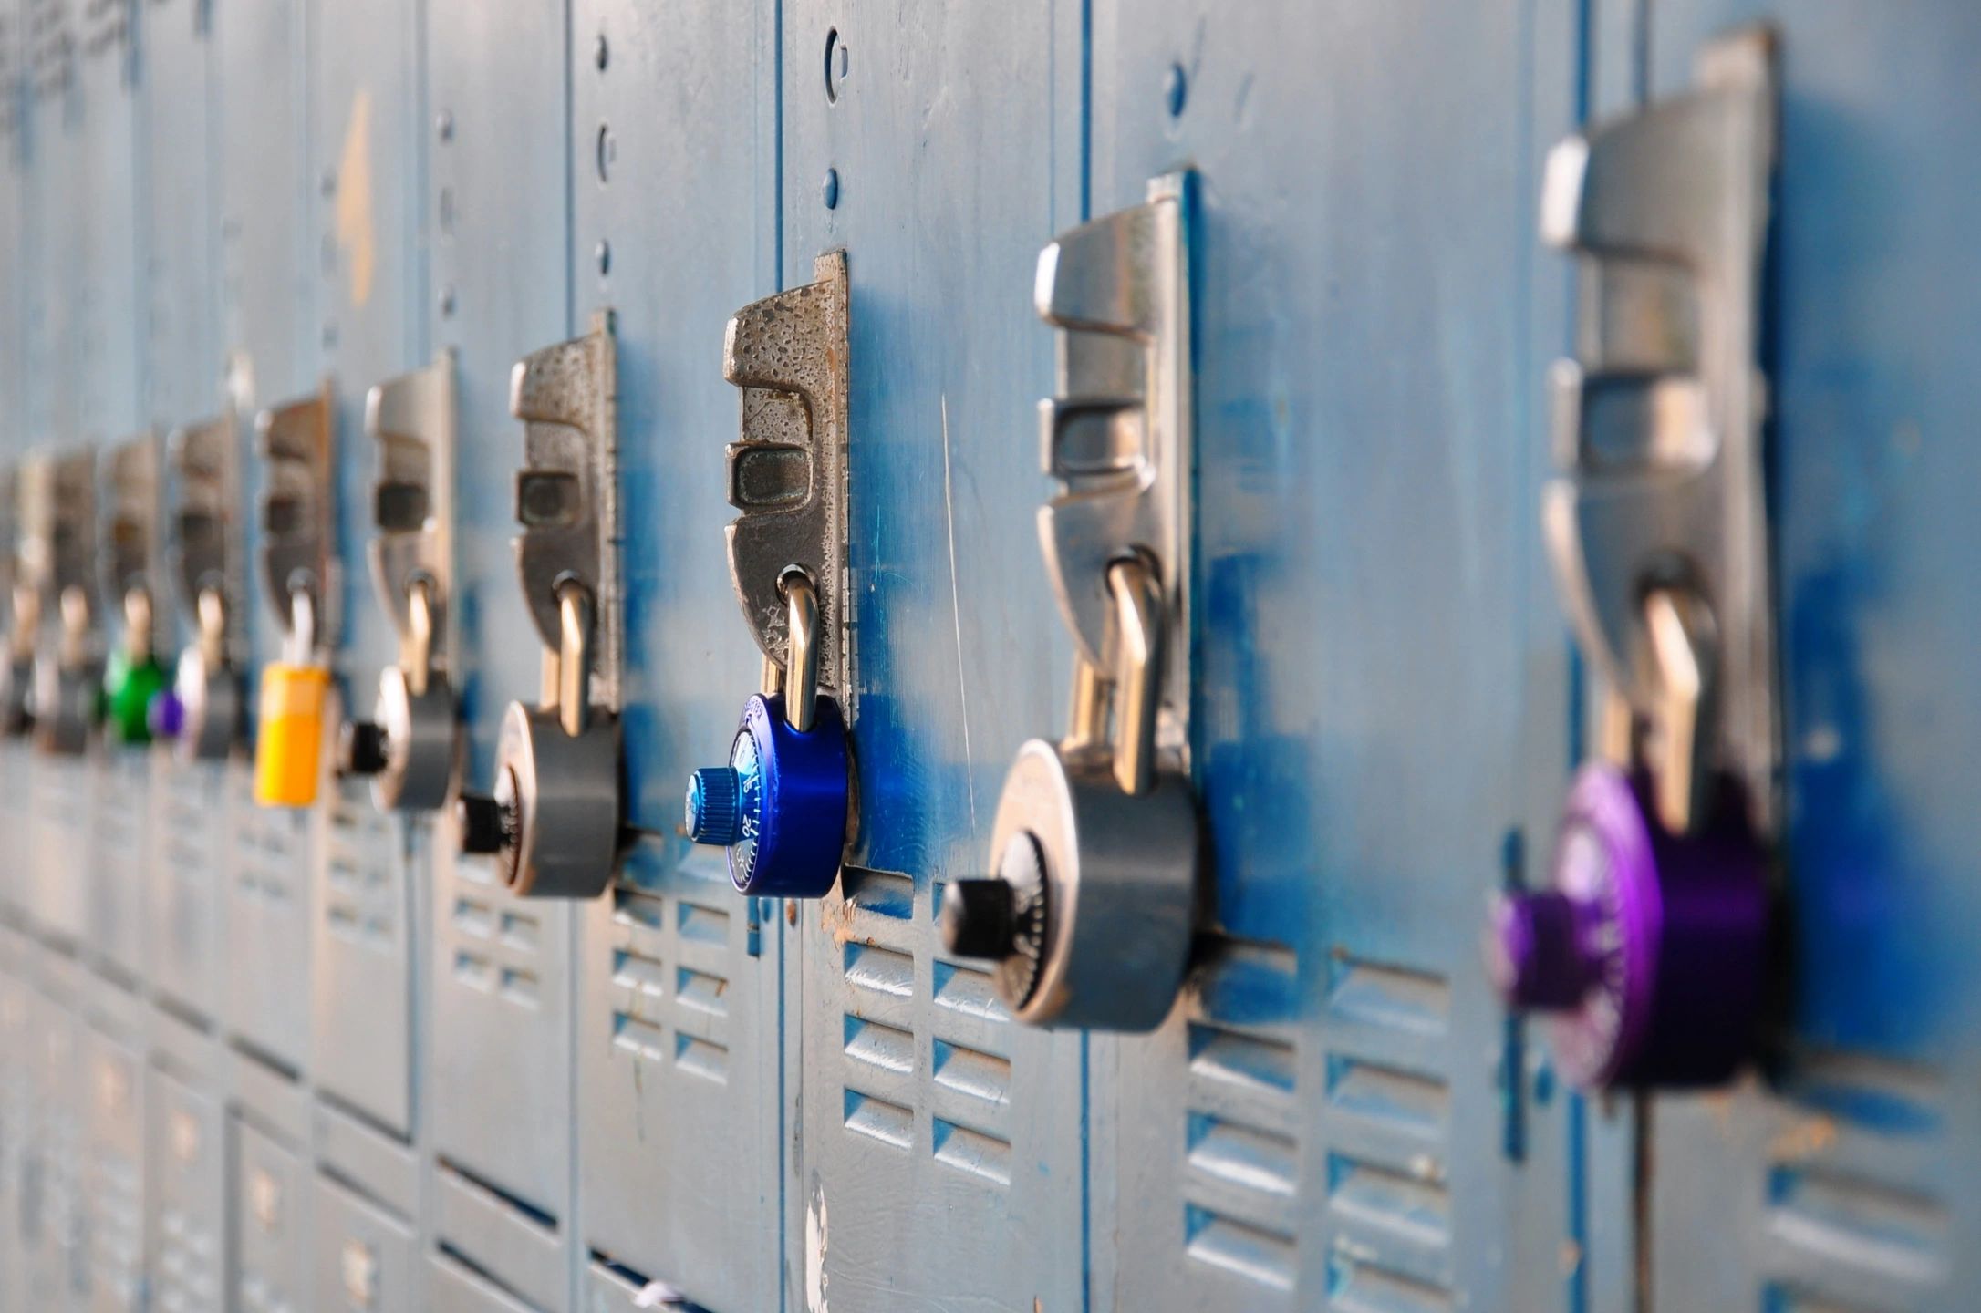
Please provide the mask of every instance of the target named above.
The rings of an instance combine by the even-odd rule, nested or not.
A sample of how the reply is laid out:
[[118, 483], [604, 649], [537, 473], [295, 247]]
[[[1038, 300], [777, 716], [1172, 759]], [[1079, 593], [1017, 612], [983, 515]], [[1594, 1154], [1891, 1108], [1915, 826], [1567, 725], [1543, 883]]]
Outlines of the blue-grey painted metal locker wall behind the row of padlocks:
[[[1591, 1099], [1478, 949], [1581, 739], [1539, 168], [1749, 18], [1791, 1006], [1735, 1089]], [[632, 832], [521, 901], [363, 788], [6, 745], [0, 1307], [1969, 1307], [1977, 63], [1953, 0], [0, 2], [0, 461], [234, 414], [254, 493], [254, 414], [329, 378], [363, 707], [365, 394], [452, 353], [471, 780], [539, 689], [509, 368], [612, 313]], [[935, 933], [1068, 711], [1032, 267], [1181, 164], [1214, 915], [1155, 1034], [1036, 1032]], [[678, 828], [757, 683], [721, 335], [832, 248], [860, 840], [844, 897], [747, 901]]]

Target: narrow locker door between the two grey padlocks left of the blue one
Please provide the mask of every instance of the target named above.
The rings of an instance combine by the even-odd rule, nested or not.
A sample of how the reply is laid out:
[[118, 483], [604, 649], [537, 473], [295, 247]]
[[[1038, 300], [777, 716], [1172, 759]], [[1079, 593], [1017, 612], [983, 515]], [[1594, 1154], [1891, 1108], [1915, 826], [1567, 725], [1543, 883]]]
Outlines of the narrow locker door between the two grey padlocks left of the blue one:
[[[462, 442], [456, 687], [471, 715], [466, 780], [485, 788], [503, 707], [541, 689], [539, 642], [509, 549], [523, 454], [509, 370], [571, 337], [567, 12], [547, 0], [440, 0], [426, 24], [434, 335], [456, 351]], [[576, 909], [511, 897], [489, 861], [456, 848], [448, 818], [432, 871], [434, 1145], [569, 1238]], [[519, 1226], [537, 1226], [511, 1212]], [[507, 1256], [471, 1258], [499, 1269]]]

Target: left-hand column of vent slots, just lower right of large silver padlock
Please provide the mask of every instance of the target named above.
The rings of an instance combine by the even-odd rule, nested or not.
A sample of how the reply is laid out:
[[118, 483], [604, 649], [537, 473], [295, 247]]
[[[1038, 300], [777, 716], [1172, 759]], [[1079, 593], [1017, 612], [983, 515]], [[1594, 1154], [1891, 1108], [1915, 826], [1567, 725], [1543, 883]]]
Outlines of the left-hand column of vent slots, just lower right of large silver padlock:
[[1300, 1271], [1300, 1054], [1292, 949], [1202, 945], [1185, 1000], [1183, 1252], [1264, 1289]]

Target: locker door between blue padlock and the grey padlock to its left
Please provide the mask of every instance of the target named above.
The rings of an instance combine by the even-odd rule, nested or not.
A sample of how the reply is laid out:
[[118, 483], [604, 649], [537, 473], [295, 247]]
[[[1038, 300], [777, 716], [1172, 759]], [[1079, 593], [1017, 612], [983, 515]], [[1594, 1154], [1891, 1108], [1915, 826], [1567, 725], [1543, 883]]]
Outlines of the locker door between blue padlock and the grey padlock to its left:
[[[678, 826], [689, 768], [727, 747], [757, 669], [723, 558], [737, 398], [715, 362], [727, 317], [777, 287], [777, 8], [578, 0], [571, 22], [571, 277], [580, 321], [618, 317], [622, 727], [642, 832], [582, 915], [582, 1240], [707, 1307], [773, 1309], [777, 1238], [739, 1226], [771, 1226], [790, 1133], [779, 931]], [[695, 1188], [656, 1190], [668, 1180]]]

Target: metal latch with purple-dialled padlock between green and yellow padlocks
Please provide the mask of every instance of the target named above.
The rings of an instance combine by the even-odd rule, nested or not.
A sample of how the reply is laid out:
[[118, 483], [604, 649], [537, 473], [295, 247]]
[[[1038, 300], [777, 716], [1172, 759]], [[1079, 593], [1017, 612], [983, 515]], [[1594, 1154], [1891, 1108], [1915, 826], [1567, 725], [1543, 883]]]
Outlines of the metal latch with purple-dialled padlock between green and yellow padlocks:
[[234, 412], [172, 434], [174, 497], [168, 553], [192, 642], [178, 654], [172, 687], [153, 703], [151, 729], [186, 760], [224, 760], [242, 741], [244, 634], [240, 436]]

